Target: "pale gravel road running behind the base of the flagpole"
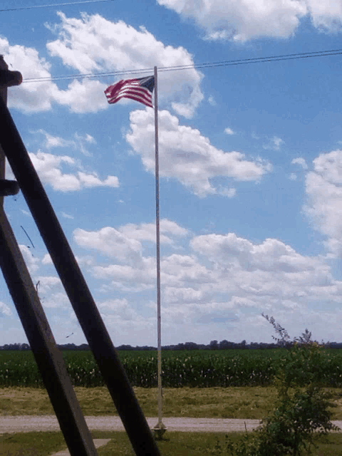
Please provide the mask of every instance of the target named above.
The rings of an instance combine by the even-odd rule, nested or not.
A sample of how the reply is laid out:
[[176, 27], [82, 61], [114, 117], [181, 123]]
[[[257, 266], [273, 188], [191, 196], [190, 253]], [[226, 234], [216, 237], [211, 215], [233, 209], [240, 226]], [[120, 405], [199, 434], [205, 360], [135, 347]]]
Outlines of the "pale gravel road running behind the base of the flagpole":
[[[150, 427], [157, 424], [157, 418], [147, 418]], [[124, 430], [123, 423], [118, 416], [86, 416], [90, 430]], [[229, 418], [163, 418], [169, 431], [182, 432], [243, 432], [245, 423], [248, 431], [259, 426], [259, 420], [233, 420]], [[342, 421], [333, 421], [341, 427]], [[60, 430], [58, 420], [53, 415], [19, 415], [0, 416], [0, 434], [5, 432]]]

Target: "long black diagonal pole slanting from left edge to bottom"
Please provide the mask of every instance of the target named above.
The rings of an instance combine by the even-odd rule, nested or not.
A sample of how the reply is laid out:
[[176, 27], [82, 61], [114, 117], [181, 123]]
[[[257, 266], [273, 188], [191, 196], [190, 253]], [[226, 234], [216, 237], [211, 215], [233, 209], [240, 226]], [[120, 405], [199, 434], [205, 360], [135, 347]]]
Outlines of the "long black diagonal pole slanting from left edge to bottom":
[[160, 456], [145, 415], [113, 346], [88, 284], [41, 185], [11, 113], [0, 98], [0, 145], [41, 233], [96, 363], [138, 456]]

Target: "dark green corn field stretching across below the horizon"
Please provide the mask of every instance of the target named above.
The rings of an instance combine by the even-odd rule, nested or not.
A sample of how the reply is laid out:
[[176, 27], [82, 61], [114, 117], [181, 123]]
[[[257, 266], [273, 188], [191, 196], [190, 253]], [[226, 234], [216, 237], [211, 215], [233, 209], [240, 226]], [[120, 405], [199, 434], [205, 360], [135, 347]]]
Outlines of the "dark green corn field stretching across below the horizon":
[[[121, 351], [120, 360], [131, 385], [157, 386], [156, 351]], [[164, 351], [164, 387], [207, 388], [214, 386], [269, 385], [279, 371], [285, 349]], [[91, 351], [63, 351], [73, 385], [103, 386], [102, 375]], [[342, 386], [342, 350], [326, 350], [322, 366], [306, 366], [317, 374], [316, 380], [329, 387]], [[319, 367], [319, 368], [318, 368]], [[31, 351], [0, 351], [0, 387], [43, 388], [43, 380]]]

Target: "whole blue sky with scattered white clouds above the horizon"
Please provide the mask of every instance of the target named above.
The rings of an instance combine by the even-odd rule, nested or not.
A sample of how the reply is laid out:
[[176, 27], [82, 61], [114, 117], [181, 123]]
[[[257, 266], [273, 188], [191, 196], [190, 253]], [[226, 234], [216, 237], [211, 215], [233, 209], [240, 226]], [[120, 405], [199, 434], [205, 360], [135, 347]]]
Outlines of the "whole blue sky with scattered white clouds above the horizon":
[[[342, 2], [0, 14], [0, 53], [24, 77], [9, 108], [113, 343], [156, 346], [153, 110], [108, 105], [103, 90], [131, 75], [82, 75], [339, 49]], [[292, 337], [341, 341], [341, 56], [160, 71], [158, 82], [162, 344], [272, 341], [262, 312]], [[24, 197], [5, 209], [56, 341], [86, 342]], [[0, 286], [0, 345], [26, 342]]]

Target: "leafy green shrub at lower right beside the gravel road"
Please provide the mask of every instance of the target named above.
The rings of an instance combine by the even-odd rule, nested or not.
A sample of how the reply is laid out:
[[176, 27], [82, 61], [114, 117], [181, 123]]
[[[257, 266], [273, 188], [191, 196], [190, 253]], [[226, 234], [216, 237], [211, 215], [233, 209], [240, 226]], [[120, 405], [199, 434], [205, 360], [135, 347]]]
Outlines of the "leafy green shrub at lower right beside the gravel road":
[[[277, 325], [274, 318], [267, 318], [283, 341], [288, 342], [288, 334]], [[281, 340], [281, 339], [280, 339]], [[306, 330], [299, 339], [294, 339], [284, 360], [274, 385], [278, 397], [276, 408], [261, 426], [242, 440], [233, 443], [228, 436], [225, 448], [215, 447], [217, 455], [222, 452], [234, 456], [300, 456], [316, 439], [331, 430], [339, 428], [331, 423], [331, 395], [324, 393], [321, 385], [324, 376], [324, 353], [318, 343], [311, 341], [311, 333]]]

